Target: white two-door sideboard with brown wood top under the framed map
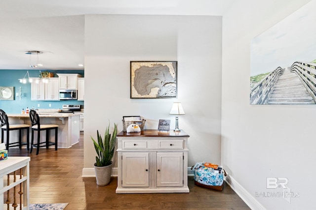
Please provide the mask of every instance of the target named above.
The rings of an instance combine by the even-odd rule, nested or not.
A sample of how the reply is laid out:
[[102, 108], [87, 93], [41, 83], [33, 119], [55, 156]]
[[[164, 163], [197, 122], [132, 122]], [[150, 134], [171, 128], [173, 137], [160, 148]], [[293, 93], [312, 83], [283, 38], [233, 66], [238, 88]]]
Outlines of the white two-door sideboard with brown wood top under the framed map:
[[120, 132], [116, 193], [189, 192], [188, 138], [184, 131]]

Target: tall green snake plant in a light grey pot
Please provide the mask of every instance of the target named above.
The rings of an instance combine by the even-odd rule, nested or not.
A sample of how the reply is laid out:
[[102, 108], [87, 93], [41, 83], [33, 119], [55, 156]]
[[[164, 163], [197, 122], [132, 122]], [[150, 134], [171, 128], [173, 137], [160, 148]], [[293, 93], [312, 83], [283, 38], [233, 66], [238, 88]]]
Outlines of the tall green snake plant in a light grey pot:
[[110, 183], [111, 172], [112, 172], [112, 158], [115, 150], [115, 139], [117, 136], [117, 125], [114, 124], [114, 130], [111, 134], [109, 133], [110, 123], [107, 126], [104, 138], [102, 139], [99, 131], [97, 130], [97, 141], [91, 139], [94, 144], [97, 156], [95, 157], [96, 162], [94, 163], [95, 178], [98, 186], [105, 186]]

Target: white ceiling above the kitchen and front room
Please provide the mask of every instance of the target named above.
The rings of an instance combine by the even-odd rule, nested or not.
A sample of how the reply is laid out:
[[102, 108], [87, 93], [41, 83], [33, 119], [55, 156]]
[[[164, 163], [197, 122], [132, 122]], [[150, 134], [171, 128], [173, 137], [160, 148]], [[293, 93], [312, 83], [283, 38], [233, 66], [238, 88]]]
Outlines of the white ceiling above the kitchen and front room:
[[[0, 0], [0, 69], [83, 70], [85, 14], [223, 15], [234, 0]], [[32, 64], [37, 55], [32, 55]]]

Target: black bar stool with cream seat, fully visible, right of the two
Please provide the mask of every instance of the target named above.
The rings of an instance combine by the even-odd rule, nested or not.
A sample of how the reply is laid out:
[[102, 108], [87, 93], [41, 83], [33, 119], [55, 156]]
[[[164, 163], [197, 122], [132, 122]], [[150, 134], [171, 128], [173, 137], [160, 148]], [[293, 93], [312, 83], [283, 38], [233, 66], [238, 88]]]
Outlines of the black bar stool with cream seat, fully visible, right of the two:
[[[32, 140], [31, 140], [31, 151], [32, 153], [33, 147], [36, 147], [36, 154], [39, 154], [40, 147], [46, 147], [48, 149], [49, 146], [55, 145], [55, 150], [57, 150], [57, 135], [58, 135], [58, 125], [55, 124], [40, 124], [40, 117], [39, 114], [36, 113], [35, 110], [30, 110], [30, 119], [32, 123]], [[55, 142], [49, 141], [49, 130], [55, 129]], [[46, 131], [46, 141], [40, 142], [40, 131], [45, 130]], [[34, 144], [34, 131], [38, 132], [38, 141], [36, 144]], [[45, 144], [45, 145], [42, 145]]]

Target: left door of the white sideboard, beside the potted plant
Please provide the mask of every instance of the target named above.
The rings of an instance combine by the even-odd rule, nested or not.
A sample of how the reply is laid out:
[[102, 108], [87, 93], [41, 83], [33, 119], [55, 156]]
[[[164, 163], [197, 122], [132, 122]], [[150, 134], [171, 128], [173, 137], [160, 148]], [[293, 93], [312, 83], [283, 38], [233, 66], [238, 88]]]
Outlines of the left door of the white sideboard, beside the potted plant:
[[149, 152], [122, 152], [122, 187], [149, 187]]

